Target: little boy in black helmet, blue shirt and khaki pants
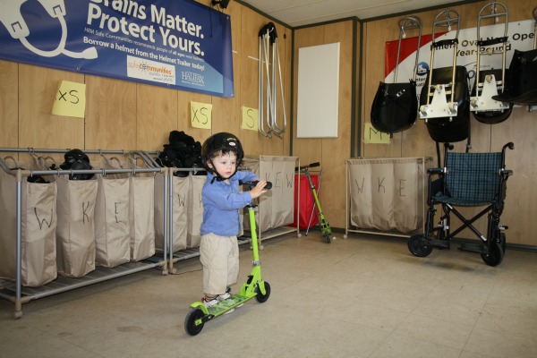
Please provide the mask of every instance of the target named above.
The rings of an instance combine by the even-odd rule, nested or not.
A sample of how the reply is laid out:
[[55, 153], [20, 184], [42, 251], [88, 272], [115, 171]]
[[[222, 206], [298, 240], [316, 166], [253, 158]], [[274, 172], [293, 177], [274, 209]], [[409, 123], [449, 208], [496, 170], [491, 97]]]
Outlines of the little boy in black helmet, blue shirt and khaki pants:
[[[241, 229], [239, 209], [267, 192], [267, 182], [250, 172], [237, 172], [243, 160], [241, 142], [231, 133], [209, 137], [201, 148], [207, 169], [203, 186], [203, 222], [201, 223], [200, 261], [203, 266], [202, 302], [206, 307], [231, 297], [229, 286], [239, 274], [237, 234]], [[239, 192], [239, 180], [259, 183], [250, 192]]]

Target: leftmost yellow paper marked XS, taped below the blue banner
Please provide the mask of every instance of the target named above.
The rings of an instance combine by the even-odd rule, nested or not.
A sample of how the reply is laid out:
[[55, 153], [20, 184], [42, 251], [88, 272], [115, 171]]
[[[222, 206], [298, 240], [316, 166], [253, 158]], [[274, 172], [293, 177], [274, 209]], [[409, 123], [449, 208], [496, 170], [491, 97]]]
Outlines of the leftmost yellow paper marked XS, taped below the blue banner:
[[55, 93], [53, 115], [84, 118], [86, 112], [86, 84], [61, 81]]

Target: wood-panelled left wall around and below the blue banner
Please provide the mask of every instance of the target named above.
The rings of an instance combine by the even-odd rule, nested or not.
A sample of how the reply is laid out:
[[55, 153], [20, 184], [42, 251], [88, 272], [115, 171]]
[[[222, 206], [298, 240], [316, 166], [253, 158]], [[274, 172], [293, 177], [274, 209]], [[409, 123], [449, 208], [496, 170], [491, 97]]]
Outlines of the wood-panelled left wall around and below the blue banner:
[[[158, 150], [177, 130], [201, 142], [213, 132], [233, 132], [249, 155], [288, 155], [289, 132], [281, 140], [241, 129], [241, 107], [258, 107], [258, 34], [269, 20], [235, 2], [224, 12], [232, 19], [234, 98], [0, 61], [0, 147]], [[277, 31], [289, 115], [292, 31], [279, 24]], [[63, 80], [86, 84], [85, 118], [51, 115]], [[191, 101], [213, 106], [211, 130], [192, 128]], [[277, 110], [283, 113], [281, 101]]]

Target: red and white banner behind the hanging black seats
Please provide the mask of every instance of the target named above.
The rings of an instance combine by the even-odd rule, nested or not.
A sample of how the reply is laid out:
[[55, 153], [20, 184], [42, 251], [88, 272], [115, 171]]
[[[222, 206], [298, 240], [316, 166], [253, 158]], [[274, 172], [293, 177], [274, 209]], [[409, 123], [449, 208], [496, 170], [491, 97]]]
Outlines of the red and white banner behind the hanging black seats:
[[[509, 22], [507, 27], [507, 46], [506, 46], [506, 68], [511, 63], [511, 58], [515, 49], [519, 51], [528, 51], [533, 49], [534, 38], [534, 23], [533, 20]], [[455, 30], [439, 34], [436, 41], [443, 39], [452, 39], [455, 37]], [[487, 38], [502, 38], [505, 32], [504, 24], [482, 26], [480, 35], [482, 39]], [[423, 83], [430, 69], [430, 45], [431, 35], [423, 35], [418, 66], [416, 69], [416, 91], [418, 97], [422, 93]], [[476, 64], [477, 64], [477, 29], [461, 29], [458, 35], [458, 46], [456, 50], [456, 64], [465, 66], [469, 76], [470, 88], [473, 87], [475, 79]], [[399, 41], [388, 41], [386, 43], [386, 62], [385, 62], [385, 82], [392, 83], [394, 81], [394, 73], [396, 69], [397, 46]], [[501, 50], [502, 45], [496, 45], [496, 51]], [[417, 37], [404, 38], [401, 40], [401, 51], [399, 55], [399, 65], [397, 69], [397, 82], [408, 82], [413, 78], [413, 70], [415, 64], [415, 55], [417, 50]], [[501, 55], [481, 55], [480, 71], [501, 69]], [[451, 67], [453, 65], [453, 47], [439, 48], [435, 50], [434, 68]]]

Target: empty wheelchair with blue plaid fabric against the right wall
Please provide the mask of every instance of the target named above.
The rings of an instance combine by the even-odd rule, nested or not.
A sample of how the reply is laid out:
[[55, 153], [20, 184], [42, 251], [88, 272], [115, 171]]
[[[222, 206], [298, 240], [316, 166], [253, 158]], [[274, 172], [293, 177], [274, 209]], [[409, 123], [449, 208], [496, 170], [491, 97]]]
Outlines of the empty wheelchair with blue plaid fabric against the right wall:
[[[462, 241], [461, 251], [481, 254], [490, 266], [498, 266], [506, 251], [507, 226], [499, 223], [506, 198], [506, 183], [511, 170], [505, 168], [506, 149], [514, 149], [512, 142], [503, 146], [501, 152], [456, 153], [453, 146], [445, 143], [443, 168], [428, 169], [429, 188], [427, 221], [424, 234], [413, 234], [408, 239], [408, 249], [417, 257], [426, 257], [433, 248], [449, 249], [452, 238], [465, 228], [477, 235], [478, 243]], [[434, 180], [433, 180], [434, 179]], [[437, 206], [442, 209], [439, 223], [433, 227]], [[456, 207], [485, 207], [475, 216], [466, 219]], [[462, 225], [453, 232], [451, 214]], [[487, 234], [482, 234], [473, 223], [488, 214]]]

